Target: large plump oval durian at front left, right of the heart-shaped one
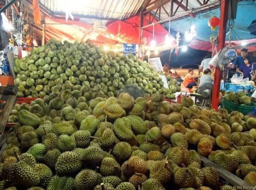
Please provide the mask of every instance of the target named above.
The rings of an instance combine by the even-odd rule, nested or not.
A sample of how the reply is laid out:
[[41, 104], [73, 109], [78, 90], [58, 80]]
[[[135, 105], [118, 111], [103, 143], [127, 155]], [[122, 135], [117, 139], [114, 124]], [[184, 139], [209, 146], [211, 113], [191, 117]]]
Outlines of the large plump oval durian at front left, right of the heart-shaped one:
[[58, 157], [55, 170], [60, 175], [66, 175], [79, 171], [81, 167], [82, 162], [78, 154], [74, 152], [64, 152]]

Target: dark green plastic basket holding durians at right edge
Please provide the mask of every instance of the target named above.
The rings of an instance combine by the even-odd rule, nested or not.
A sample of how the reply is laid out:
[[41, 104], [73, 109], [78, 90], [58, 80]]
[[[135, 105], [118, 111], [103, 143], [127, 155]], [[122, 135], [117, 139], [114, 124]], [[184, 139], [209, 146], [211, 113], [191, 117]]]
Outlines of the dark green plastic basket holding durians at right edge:
[[246, 115], [247, 113], [253, 111], [254, 107], [256, 106], [244, 106], [244, 105], [239, 105], [230, 101], [225, 100], [224, 98], [222, 99], [222, 106], [227, 109], [227, 111], [230, 113], [231, 111], [239, 111]]

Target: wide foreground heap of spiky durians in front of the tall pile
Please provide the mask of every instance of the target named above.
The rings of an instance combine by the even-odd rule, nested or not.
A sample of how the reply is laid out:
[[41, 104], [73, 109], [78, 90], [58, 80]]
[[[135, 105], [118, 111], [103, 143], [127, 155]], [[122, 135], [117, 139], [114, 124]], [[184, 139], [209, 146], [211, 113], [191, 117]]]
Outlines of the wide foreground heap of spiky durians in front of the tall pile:
[[170, 104], [159, 93], [64, 95], [14, 106], [18, 124], [1, 154], [0, 190], [232, 188], [200, 155], [256, 184], [255, 118], [200, 110], [188, 97]]

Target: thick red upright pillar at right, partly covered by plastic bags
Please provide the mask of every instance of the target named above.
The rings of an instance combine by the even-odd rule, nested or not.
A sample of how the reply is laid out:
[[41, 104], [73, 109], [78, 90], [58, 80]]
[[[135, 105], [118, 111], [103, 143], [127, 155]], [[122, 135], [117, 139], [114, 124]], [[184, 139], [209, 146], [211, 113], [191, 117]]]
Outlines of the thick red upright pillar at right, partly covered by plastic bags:
[[[227, 28], [227, 13], [229, 7], [229, 0], [221, 1], [221, 16], [219, 23], [219, 34], [218, 34], [218, 51], [225, 46], [226, 28]], [[216, 111], [219, 107], [219, 89], [221, 87], [222, 71], [219, 67], [215, 69], [214, 84], [213, 84], [213, 95], [212, 95], [212, 107]]]

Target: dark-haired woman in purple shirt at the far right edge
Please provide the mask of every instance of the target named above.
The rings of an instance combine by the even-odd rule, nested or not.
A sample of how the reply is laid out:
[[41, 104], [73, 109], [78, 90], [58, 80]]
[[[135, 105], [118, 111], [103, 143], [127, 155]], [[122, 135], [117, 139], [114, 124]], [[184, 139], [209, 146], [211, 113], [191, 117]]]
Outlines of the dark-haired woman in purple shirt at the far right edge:
[[244, 58], [244, 64], [242, 64], [238, 69], [236, 70], [237, 73], [243, 74], [244, 78], [249, 78], [249, 80], [254, 80], [256, 77], [256, 65], [250, 63], [250, 58], [245, 57]]

